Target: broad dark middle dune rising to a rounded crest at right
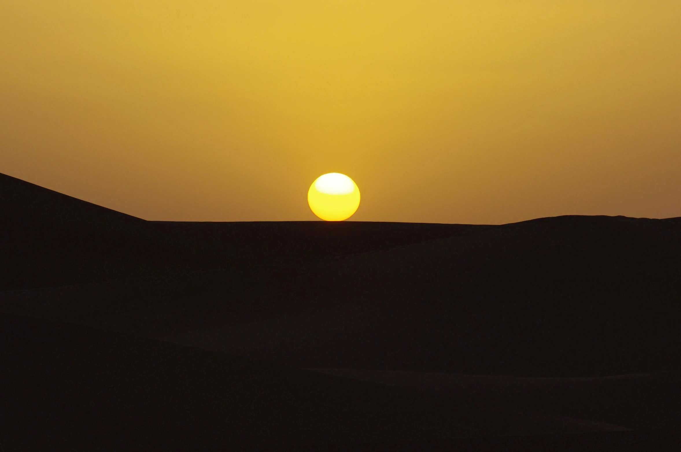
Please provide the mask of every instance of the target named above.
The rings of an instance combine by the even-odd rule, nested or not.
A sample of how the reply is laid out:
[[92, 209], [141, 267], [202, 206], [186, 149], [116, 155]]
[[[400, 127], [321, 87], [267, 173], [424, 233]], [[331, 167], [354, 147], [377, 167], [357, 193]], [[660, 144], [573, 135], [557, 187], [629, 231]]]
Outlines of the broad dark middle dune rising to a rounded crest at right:
[[681, 363], [678, 231], [565, 216], [332, 261], [5, 292], [0, 306], [307, 368], [653, 372]]

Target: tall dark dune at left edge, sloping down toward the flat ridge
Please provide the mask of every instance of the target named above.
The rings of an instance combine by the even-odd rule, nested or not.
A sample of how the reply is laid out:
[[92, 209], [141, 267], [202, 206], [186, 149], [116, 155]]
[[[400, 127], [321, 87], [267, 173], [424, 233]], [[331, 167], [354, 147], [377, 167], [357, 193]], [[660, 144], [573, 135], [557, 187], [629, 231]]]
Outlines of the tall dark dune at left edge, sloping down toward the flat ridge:
[[148, 222], [0, 174], [0, 289], [29, 289], [215, 268]]

